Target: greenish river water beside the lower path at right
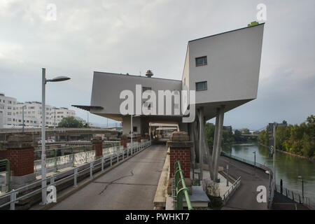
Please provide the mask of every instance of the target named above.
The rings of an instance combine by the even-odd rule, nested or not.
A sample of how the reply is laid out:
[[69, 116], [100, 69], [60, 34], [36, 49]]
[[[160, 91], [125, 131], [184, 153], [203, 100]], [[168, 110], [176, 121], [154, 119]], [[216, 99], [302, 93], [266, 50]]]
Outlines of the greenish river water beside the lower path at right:
[[[269, 149], [260, 144], [226, 144], [222, 149], [228, 155], [235, 155], [239, 158], [254, 161], [254, 151], [256, 152], [256, 162], [272, 169], [272, 158], [269, 158]], [[283, 188], [288, 188], [302, 195], [302, 181], [304, 179], [304, 196], [315, 201], [315, 162], [297, 158], [286, 153], [276, 152], [276, 184], [283, 181]]]

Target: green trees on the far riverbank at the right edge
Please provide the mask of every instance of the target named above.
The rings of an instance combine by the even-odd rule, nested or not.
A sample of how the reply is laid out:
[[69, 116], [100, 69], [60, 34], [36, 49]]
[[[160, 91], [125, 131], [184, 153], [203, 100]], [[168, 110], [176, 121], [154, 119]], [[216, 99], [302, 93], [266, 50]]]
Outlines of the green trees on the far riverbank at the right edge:
[[[286, 124], [286, 120], [283, 120]], [[276, 148], [281, 151], [288, 151], [297, 155], [313, 157], [315, 153], [314, 145], [314, 116], [307, 118], [306, 123], [300, 125], [288, 125], [287, 127], [276, 127]], [[268, 144], [266, 130], [262, 130], [258, 136], [260, 144]]]

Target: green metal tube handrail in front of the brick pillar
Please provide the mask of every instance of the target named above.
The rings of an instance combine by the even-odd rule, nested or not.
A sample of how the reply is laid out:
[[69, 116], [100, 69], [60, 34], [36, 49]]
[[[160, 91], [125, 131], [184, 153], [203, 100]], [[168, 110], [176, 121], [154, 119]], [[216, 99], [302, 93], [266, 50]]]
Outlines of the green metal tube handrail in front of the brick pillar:
[[[190, 199], [188, 196], [188, 188], [185, 184], [185, 179], [183, 178], [183, 170], [181, 169], [181, 162], [176, 161], [174, 164], [174, 179], [175, 179], [175, 197], [176, 197], [176, 210], [183, 210], [183, 194], [186, 198], [186, 204], [188, 210], [193, 210], [191, 206]], [[180, 188], [181, 183], [181, 188]]]

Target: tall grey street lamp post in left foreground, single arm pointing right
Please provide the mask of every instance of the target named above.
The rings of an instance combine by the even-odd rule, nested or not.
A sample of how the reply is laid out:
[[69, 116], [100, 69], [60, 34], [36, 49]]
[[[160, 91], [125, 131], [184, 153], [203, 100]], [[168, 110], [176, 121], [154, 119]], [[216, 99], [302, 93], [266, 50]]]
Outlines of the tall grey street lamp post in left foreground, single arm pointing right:
[[69, 80], [69, 77], [58, 76], [52, 79], [46, 79], [46, 69], [42, 69], [42, 83], [41, 83], [41, 204], [46, 204], [46, 153], [45, 153], [45, 85], [48, 82], [61, 82]]

